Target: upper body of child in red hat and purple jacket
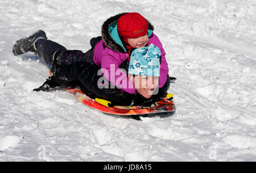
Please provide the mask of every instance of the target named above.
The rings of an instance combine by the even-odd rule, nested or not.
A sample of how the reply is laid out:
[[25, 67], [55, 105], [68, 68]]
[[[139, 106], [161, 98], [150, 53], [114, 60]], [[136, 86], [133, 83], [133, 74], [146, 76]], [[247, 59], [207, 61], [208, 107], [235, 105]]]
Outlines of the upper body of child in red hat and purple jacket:
[[[104, 77], [112, 82], [113, 85], [130, 94], [135, 94], [135, 87], [127, 76], [110, 75], [110, 69], [114, 67], [114, 71], [117, 71], [125, 60], [128, 59], [129, 61], [134, 49], [150, 44], [156, 45], [161, 51], [159, 88], [162, 88], [167, 82], [168, 64], [165, 57], [166, 53], [153, 30], [152, 24], [137, 12], [118, 14], [104, 22], [102, 25], [102, 40], [94, 48], [93, 60], [96, 65], [108, 70], [108, 75], [104, 74]], [[102, 45], [103, 47], [105, 46], [104, 50]], [[117, 79], [120, 78], [125, 82], [117, 82]]]

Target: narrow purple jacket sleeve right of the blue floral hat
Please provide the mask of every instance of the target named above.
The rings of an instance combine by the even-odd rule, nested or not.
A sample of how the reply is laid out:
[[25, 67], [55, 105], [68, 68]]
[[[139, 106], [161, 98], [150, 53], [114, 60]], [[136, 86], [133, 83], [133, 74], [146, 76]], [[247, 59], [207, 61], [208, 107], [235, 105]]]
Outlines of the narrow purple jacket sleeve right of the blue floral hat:
[[167, 75], [169, 73], [168, 64], [166, 61], [166, 52], [164, 52], [161, 41], [156, 35], [152, 37], [152, 43], [155, 44], [161, 50], [161, 64], [160, 64], [160, 77], [159, 77], [159, 88], [162, 88], [167, 80]]

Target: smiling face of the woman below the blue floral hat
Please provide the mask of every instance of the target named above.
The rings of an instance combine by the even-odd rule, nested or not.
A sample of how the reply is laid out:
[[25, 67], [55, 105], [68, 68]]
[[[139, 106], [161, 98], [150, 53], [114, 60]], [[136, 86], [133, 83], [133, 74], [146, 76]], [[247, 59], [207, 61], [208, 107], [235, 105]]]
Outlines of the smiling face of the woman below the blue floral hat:
[[146, 75], [136, 75], [135, 77], [129, 74], [129, 79], [133, 81], [134, 86], [139, 94], [148, 99], [158, 89], [159, 77], [152, 77]]

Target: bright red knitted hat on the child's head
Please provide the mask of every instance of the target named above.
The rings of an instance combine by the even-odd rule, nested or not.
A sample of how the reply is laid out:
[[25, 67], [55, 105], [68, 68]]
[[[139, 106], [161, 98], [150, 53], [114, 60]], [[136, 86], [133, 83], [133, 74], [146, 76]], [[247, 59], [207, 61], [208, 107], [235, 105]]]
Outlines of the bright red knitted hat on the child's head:
[[118, 33], [125, 39], [141, 37], [147, 34], [147, 29], [147, 20], [137, 12], [124, 14], [117, 21]]

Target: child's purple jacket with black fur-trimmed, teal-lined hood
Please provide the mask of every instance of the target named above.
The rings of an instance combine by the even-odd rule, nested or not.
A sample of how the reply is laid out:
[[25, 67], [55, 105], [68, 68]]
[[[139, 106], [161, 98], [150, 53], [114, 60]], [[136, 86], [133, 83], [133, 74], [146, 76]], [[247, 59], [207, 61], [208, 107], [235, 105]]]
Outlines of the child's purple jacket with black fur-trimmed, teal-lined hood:
[[[135, 94], [135, 87], [133, 82], [127, 77], [127, 73], [120, 73], [121, 70], [118, 70], [122, 62], [129, 57], [119, 40], [118, 34], [116, 34], [117, 27], [113, 27], [113, 23], [117, 23], [118, 18], [122, 15], [123, 14], [115, 15], [106, 20], [102, 25], [103, 40], [98, 42], [94, 48], [93, 61], [96, 65], [101, 66], [101, 69], [106, 69], [108, 71], [108, 73], [103, 73], [104, 77], [113, 85], [129, 94]], [[160, 64], [159, 88], [162, 88], [167, 80], [168, 64], [165, 57], [166, 52], [164, 52], [162, 43], [158, 37], [152, 33], [153, 30], [154, 27], [148, 22], [148, 45], [152, 43], [161, 50], [162, 61]], [[112, 71], [110, 71], [110, 67], [112, 67]]]

